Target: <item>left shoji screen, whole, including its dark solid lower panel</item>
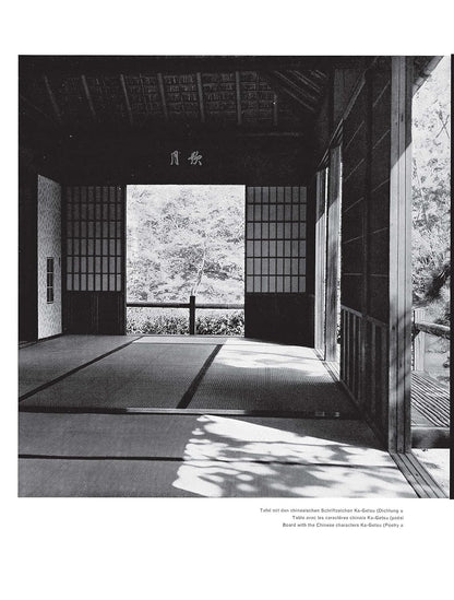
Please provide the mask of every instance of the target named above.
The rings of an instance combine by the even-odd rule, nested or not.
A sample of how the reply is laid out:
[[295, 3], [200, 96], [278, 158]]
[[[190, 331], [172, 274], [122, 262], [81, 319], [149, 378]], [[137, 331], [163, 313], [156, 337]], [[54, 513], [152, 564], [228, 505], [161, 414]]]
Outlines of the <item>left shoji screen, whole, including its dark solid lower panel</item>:
[[124, 187], [65, 188], [64, 326], [124, 332]]

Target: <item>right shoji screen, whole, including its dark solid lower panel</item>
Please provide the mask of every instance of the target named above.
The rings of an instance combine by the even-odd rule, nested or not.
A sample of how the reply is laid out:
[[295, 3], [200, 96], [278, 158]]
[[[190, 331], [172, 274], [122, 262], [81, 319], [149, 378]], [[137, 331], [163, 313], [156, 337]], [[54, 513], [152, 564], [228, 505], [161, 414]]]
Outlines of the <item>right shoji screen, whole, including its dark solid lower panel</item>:
[[246, 230], [246, 336], [312, 345], [306, 188], [248, 187]]

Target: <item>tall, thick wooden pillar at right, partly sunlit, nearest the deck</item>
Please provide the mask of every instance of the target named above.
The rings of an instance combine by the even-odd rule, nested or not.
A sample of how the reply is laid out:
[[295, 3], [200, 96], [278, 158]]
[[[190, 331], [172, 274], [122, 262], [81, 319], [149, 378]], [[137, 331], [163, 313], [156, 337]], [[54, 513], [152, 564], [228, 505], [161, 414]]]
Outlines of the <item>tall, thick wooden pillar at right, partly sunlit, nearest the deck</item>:
[[389, 449], [411, 448], [411, 59], [392, 58]]

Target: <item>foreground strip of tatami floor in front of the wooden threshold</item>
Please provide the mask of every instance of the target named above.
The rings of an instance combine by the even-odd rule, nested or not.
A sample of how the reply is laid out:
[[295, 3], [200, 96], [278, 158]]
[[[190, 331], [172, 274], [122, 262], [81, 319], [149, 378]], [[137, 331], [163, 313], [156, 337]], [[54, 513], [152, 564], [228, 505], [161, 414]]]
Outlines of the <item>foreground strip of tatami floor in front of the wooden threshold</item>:
[[22, 413], [20, 424], [22, 496], [415, 497], [360, 422]]

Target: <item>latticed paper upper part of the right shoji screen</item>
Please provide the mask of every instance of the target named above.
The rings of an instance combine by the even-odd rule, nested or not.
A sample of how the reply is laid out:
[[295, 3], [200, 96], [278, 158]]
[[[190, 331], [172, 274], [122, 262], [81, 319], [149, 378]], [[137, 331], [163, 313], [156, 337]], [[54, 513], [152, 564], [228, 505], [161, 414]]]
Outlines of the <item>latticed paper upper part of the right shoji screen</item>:
[[306, 188], [247, 193], [246, 292], [306, 292]]

